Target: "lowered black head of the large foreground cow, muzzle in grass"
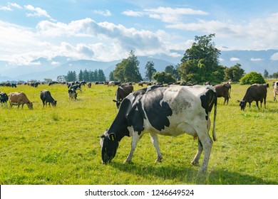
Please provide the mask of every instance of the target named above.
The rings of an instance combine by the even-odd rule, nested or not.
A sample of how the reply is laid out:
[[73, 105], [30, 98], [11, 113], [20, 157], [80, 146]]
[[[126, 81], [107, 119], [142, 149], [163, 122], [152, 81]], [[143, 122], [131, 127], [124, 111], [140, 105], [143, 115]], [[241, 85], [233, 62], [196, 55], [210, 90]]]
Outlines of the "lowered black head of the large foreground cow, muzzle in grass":
[[101, 158], [103, 163], [110, 162], [116, 154], [119, 142], [114, 133], [101, 135]]

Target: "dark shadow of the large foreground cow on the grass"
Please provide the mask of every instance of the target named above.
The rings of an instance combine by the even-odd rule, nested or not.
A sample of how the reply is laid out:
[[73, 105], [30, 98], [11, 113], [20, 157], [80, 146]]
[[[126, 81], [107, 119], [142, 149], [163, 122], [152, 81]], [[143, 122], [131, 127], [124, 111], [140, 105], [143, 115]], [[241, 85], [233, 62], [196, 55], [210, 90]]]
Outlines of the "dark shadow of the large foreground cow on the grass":
[[[249, 176], [242, 173], [225, 171], [218, 169], [208, 171], [207, 173], [198, 173], [198, 168], [195, 166], [176, 167], [161, 166], [158, 164], [149, 164], [143, 166], [136, 163], [111, 163], [114, 168], [121, 172], [131, 173], [140, 178], [145, 178], [148, 181], [158, 179], [165, 181], [165, 184], [174, 182], [175, 184], [197, 184], [197, 185], [277, 185], [278, 181], [265, 181], [262, 178]], [[153, 184], [156, 184], [153, 181]], [[140, 184], [140, 183], [139, 183]]]

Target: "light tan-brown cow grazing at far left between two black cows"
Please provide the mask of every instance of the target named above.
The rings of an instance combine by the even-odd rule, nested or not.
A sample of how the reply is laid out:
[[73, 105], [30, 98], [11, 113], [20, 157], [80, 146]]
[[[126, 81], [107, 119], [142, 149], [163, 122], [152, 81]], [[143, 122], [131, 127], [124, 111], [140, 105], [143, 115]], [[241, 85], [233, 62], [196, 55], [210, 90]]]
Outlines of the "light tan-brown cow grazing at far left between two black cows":
[[33, 103], [30, 102], [24, 92], [11, 92], [9, 94], [9, 103], [11, 107], [13, 107], [13, 105], [17, 105], [18, 109], [20, 105], [22, 105], [23, 109], [24, 104], [27, 104], [27, 107], [29, 107], [29, 109], [33, 109]]

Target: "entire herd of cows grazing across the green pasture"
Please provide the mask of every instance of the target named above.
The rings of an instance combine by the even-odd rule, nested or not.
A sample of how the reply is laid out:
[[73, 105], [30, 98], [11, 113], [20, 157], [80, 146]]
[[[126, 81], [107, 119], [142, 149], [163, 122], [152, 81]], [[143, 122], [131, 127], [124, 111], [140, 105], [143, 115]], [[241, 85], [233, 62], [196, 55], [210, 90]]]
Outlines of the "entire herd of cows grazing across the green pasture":
[[[143, 86], [145, 82], [140, 82]], [[96, 83], [98, 84], [98, 83]], [[146, 83], [145, 83], [146, 84]], [[52, 84], [49, 84], [52, 85]], [[76, 90], [82, 92], [81, 83], [68, 82], [68, 99], [77, 98]], [[125, 136], [132, 136], [131, 149], [125, 162], [132, 161], [133, 152], [143, 134], [150, 134], [151, 141], [155, 147], [157, 158], [161, 162], [162, 154], [158, 144], [158, 134], [164, 136], [179, 136], [189, 134], [198, 141], [197, 154], [192, 160], [193, 165], [197, 165], [202, 152], [204, 158], [200, 171], [207, 171], [213, 141], [216, 141], [215, 123], [217, 115], [217, 98], [224, 97], [224, 104], [229, 103], [231, 98], [231, 82], [219, 85], [153, 85], [134, 91], [133, 85], [120, 85], [118, 82], [107, 82], [105, 85], [118, 88], [115, 92], [115, 102], [118, 113], [110, 127], [101, 135], [101, 158], [103, 163], [109, 163], [116, 154], [120, 140]], [[147, 85], [147, 84], [146, 84]], [[91, 82], [88, 84], [91, 88]], [[256, 102], [257, 108], [266, 108], [268, 84], [251, 85], [240, 102], [240, 108], [244, 111], [247, 103]], [[278, 81], [272, 84], [274, 101], [277, 101]], [[48, 90], [41, 90], [40, 98], [43, 107], [56, 107], [57, 101], [51, 96]], [[16, 105], [19, 109], [24, 104], [29, 109], [33, 109], [33, 103], [26, 97], [24, 92], [11, 92], [9, 95], [0, 93], [1, 106], [10, 107]], [[210, 113], [214, 107], [214, 118], [212, 127], [212, 139], [210, 137]]]

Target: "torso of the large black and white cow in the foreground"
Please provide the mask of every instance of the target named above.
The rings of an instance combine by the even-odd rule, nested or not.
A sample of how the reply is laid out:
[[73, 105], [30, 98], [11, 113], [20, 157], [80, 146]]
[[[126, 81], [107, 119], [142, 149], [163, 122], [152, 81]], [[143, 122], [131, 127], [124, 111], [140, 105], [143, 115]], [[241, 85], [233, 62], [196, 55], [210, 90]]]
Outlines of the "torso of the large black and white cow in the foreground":
[[[215, 88], [210, 86], [210, 90], [216, 98]], [[144, 127], [149, 131], [177, 136], [184, 133], [179, 131], [179, 125], [194, 126], [200, 121], [207, 122], [208, 112], [211, 112], [214, 104], [207, 96], [210, 90], [197, 85], [169, 86], [146, 92], [141, 99], [145, 114]]]

